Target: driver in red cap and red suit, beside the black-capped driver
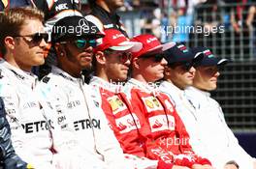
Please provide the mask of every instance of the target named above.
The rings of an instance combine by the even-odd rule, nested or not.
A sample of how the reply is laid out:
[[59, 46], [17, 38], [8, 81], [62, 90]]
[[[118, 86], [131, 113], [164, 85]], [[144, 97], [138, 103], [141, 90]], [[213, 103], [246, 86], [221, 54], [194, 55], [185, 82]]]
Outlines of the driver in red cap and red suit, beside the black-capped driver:
[[[131, 52], [140, 50], [142, 43], [130, 42], [116, 29], [107, 29], [105, 34], [106, 36], [94, 48], [95, 76], [91, 78], [89, 84], [94, 90], [99, 91], [99, 105], [127, 158], [134, 159], [138, 168], [156, 168], [157, 161], [142, 159], [144, 149], [130, 139], [130, 135], [137, 134], [138, 131], [129, 107], [119, 95], [122, 85], [127, 80], [132, 59]], [[130, 124], [124, 124], [124, 121]]]

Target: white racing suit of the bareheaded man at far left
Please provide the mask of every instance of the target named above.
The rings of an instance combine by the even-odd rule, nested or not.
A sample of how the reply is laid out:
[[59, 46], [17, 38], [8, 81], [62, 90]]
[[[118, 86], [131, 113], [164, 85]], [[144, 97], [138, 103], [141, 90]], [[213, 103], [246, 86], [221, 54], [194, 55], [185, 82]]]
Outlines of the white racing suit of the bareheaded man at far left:
[[36, 169], [51, 169], [49, 123], [35, 92], [37, 77], [4, 60], [0, 61], [0, 70], [0, 97], [16, 155]]

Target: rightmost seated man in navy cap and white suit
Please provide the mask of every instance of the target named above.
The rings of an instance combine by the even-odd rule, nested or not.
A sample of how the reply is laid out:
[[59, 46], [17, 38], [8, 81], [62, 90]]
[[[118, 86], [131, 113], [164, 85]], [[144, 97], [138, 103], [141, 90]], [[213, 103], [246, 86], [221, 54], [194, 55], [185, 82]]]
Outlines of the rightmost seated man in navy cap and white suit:
[[[195, 118], [191, 122], [197, 124], [196, 132], [199, 144], [205, 147], [206, 154], [216, 168], [233, 167], [253, 169], [255, 159], [248, 155], [241, 147], [232, 130], [227, 126], [221, 107], [216, 100], [211, 99], [208, 92], [216, 89], [219, 68], [228, 63], [227, 59], [214, 56], [207, 47], [192, 48], [194, 54], [203, 53], [203, 60], [196, 64], [193, 86], [185, 90], [187, 98], [195, 108]], [[195, 122], [196, 120], [196, 122]], [[194, 126], [190, 126], [194, 128]], [[197, 147], [195, 147], [197, 148]], [[233, 161], [233, 162], [228, 162]], [[236, 161], [236, 162], [235, 162]], [[239, 166], [239, 167], [238, 167]], [[255, 168], [255, 166], [254, 166]]]

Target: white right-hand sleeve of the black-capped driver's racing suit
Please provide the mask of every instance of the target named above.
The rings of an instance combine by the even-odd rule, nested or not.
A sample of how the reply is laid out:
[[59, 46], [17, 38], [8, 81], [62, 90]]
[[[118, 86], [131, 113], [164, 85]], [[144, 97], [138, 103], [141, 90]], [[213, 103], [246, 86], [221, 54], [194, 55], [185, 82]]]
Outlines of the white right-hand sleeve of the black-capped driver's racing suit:
[[[91, 117], [95, 119], [100, 119], [100, 129], [94, 130], [96, 149], [97, 151], [104, 156], [105, 162], [107, 162], [109, 168], [112, 169], [153, 169], [157, 166], [157, 161], [149, 160], [146, 158], [139, 158], [133, 155], [124, 155], [120, 144], [115, 138], [111, 127], [108, 125], [107, 118], [99, 106], [98, 100], [95, 100], [96, 97], [99, 97], [98, 92], [93, 92], [90, 96], [94, 96], [94, 100], [89, 98], [86, 95], [86, 100], [88, 104], [89, 111], [93, 110], [93, 113], [90, 113]], [[95, 95], [98, 95], [95, 97]], [[96, 103], [96, 104], [95, 104]]]

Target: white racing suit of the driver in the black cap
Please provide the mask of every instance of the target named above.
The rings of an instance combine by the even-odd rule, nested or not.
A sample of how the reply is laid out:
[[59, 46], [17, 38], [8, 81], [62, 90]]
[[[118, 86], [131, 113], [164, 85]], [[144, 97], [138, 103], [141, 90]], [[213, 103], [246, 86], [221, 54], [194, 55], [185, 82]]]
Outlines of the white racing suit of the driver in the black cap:
[[[55, 119], [52, 133], [57, 168], [136, 168], [134, 159], [127, 160], [122, 154], [96, 99], [98, 96], [81, 78], [52, 67], [40, 86], [48, 105], [56, 109], [50, 118]], [[128, 156], [131, 157], [136, 158]]]

